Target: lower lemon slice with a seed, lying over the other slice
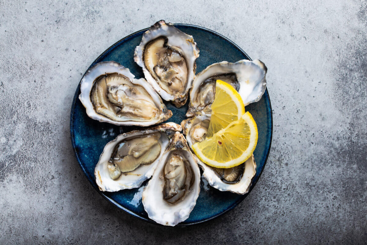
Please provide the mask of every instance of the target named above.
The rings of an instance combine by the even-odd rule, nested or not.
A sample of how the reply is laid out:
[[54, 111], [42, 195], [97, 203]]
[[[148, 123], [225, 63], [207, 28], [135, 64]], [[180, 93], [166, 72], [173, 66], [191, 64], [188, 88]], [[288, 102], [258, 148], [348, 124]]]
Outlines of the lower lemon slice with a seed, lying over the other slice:
[[192, 149], [207, 165], [230, 168], [245, 162], [255, 150], [258, 132], [250, 112], [239, 120], [230, 123], [224, 129], [206, 140], [195, 143]]

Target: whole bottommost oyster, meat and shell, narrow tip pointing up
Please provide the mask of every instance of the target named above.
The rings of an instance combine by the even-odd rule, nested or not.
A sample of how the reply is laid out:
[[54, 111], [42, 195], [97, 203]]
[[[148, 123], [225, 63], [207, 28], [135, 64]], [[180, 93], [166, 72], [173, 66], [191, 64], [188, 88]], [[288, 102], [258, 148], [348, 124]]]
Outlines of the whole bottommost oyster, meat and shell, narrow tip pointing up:
[[143, 190], [150, 219], [165, 226], [186, 220], [200, 192], [200, 170], [181, 133], [176, 132]]

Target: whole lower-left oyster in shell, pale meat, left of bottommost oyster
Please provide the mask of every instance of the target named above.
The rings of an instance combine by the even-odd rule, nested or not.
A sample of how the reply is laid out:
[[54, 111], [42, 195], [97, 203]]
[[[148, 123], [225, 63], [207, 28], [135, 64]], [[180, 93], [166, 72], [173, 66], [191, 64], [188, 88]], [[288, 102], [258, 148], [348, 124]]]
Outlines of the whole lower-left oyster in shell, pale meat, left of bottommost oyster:
[[106, 144], [97, 166], [95, 181], [101, 191], [139, 187], [149, 179], [175, 131], [176, 123], [123, 133]]

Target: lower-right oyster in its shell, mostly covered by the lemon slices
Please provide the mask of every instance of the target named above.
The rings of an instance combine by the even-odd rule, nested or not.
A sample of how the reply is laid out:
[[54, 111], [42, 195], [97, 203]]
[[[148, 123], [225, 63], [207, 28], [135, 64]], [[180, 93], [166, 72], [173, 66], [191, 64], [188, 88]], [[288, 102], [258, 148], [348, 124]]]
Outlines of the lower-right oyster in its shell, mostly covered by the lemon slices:
[[[190, 148], [193, 144], [205, 140], [209, 123], [210, 117], [208, 116], [195, 116], [181, 122], [183, 133], [186, 135]], [[245, 194], [248, 192], [251, 180], [256, 173], [256, 163], [253, 155], [241, 165], [228, 169], [208, 166], [199, 158], [197, 158], [197, 162], [203, 169], [204, 179], [220, 191]]]

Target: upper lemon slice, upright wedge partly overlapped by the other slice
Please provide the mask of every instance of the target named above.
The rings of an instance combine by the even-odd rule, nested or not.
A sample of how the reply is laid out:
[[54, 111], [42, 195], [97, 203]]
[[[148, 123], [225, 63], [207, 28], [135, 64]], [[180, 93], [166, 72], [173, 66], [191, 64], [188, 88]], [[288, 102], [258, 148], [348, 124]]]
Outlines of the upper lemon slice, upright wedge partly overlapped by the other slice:
[[213, 136], [245, 113], [245, 105], [240, 94], [229, 83], [222, 80], [217, 80], [215, 85], [215, 98], [211, 109], [207, 137]]

